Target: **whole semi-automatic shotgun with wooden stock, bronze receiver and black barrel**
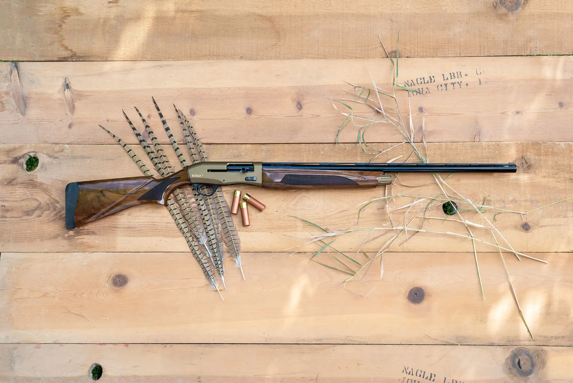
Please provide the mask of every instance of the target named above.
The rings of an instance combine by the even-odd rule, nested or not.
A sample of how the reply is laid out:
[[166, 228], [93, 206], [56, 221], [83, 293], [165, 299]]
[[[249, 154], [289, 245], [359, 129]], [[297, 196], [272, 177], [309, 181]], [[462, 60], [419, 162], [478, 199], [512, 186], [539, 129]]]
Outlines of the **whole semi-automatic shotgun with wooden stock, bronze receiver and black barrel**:
[[131, 177], [71, 182], [66, 186], [66, 228], [73, 229], [140, 204], [167, 205], [170, 194], [192, 185], [212, 196], [221, 185], [269, 189], [375, 187], [392, 182], [384, 173], [515, 173], [515, 163], [197, 162], [162, 179]]

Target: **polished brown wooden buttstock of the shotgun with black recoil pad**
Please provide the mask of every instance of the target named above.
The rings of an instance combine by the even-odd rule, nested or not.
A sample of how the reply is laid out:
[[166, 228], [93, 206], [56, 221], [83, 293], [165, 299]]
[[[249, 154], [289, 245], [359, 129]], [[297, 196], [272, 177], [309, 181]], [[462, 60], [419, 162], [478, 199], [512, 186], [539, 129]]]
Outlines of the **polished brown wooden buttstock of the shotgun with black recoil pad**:
[[66, 228], [73, 229], [140, 204], [166, 205], [176, 187], [189, 183], [186, 169], [163, 179], [132, 177], [68, 183]]

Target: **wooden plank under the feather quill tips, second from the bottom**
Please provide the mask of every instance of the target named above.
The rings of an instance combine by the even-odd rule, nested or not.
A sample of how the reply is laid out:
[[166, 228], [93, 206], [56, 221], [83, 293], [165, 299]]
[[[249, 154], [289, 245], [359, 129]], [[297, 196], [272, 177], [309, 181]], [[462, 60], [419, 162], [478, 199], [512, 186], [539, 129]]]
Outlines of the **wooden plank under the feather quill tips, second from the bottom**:
[[473, 253], [385, 253], [346, 290], [311, 255], [243, 253], [246, 280], [227, 259], [223, 302], [189, 253], [2, 253], [0, 342], [573, 345], [571, 253], [505, 256], [535, 339], [499, 254], [478, 255], [485, 301]]

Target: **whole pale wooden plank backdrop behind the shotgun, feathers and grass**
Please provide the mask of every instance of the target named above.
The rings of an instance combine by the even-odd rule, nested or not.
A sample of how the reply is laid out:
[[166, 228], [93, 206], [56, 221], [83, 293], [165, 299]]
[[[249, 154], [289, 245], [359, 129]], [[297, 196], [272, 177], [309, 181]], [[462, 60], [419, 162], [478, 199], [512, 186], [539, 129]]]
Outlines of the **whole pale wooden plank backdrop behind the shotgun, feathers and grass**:
[[[517, 174], [458, 174], [450, 185], [521, 212], [573, 197], [573, 57], [499, 57], [571, 55], [566, 1], [30, 0], [0, 9], [0, 58], [14, 61], [0, 62], [0, 381], [90, 381], [93, 362], [103, 382], [573, 379], [573, 200], [523, 217], [485, 212], [517, 251], [548, 261], [504, 253], [533, 339], [500, 254], [478, 242], [482, 300], [472, 242], [443, 234], [467, 229], [427, 205], [441, 193], [423, 185], [430, 175], [372, 190], [241, 187], [267, 208], [250, 210], [248, 228], [235, 217], [246, 280], [226, 259], [224, 302], [163, 206], [64, 225], [66, 183], [140, 175], [97, 124], [145, 158], [121, 114], [136, 121], [137, 106], [168, 142], [151, 96], [179, 142], [171, 103], [190, 117], [213, 161], [370, 161], [354, 144], [356, 126], [340, 132], [346, 150], [334, 144], [344, 116], [331, 99], [353, 97], [346, 81], [391, 88], [378, 36], [396, 57], [399, 30], [398, 84], [421, 94], [398, 100], [420, 147], [425, 124], [430, 160], [517, 163]], [[366, 140], [384, 149], [402, 136], [376, 126]], [[403, 145], [376, 160], [410, 153]], [[30, 154], [40, 166], [28, 173]], [[349, 275], [309, 260], [323, 244], [296, 247], [320, 229], [295, 216], [351, 228], [314, 259], [358, 268], [337, 263], [336, 248], [366, 265], [374, 253], [358, 255], [361, 244], [378, 251], [393, 232], [386, 202], [359, 222], [357, 205], [385, 193], [408, 195], [388, 204], [398, 225], [426, 214], [439, 219], [423, 227], [442, 234], [402, 233], [346, 286]], [[428, 199], [410, 208], [414, 195]], [[472, 210], [464, 217], [486, 223]]]

